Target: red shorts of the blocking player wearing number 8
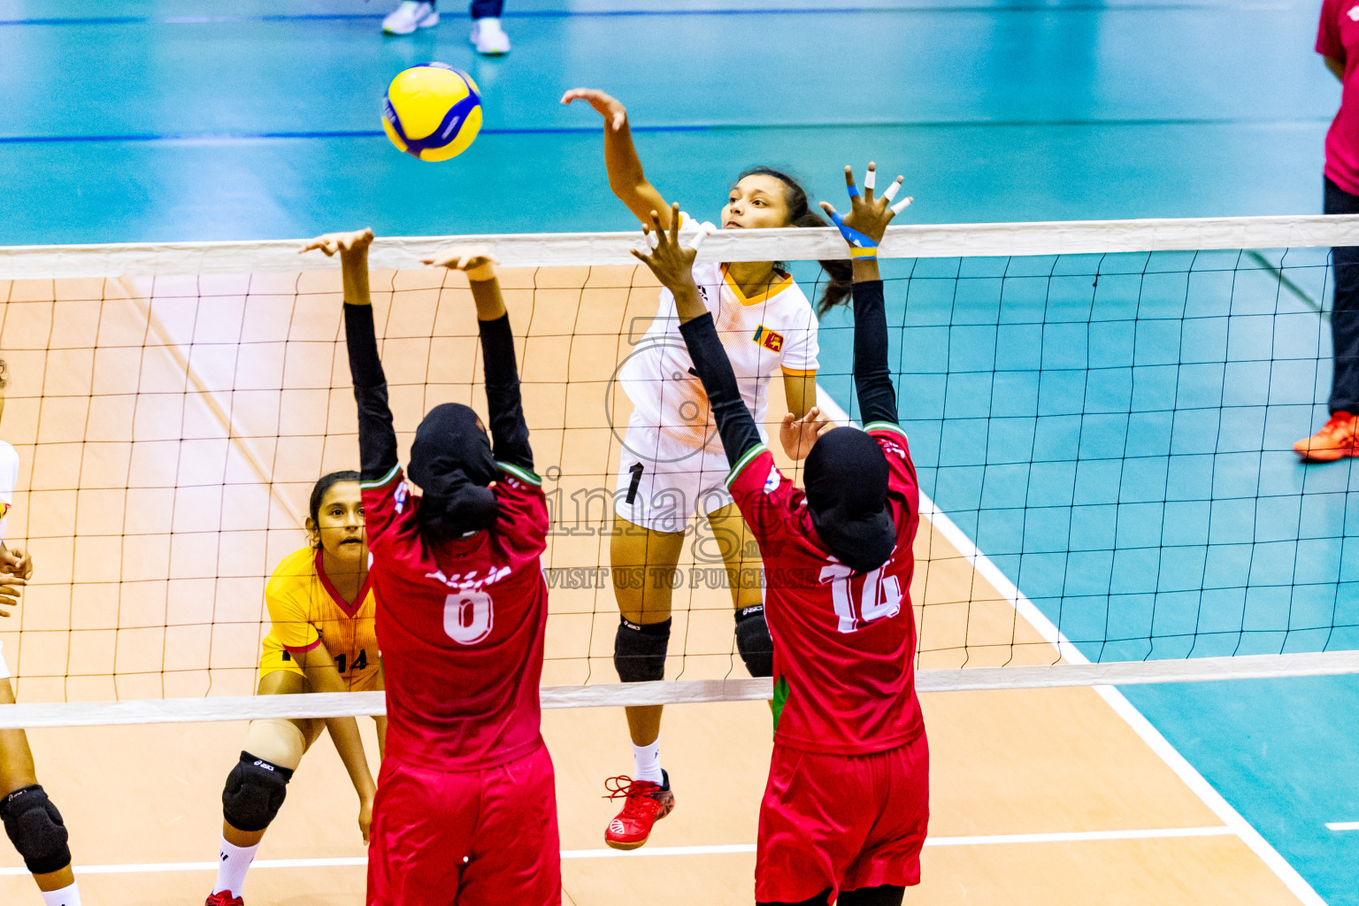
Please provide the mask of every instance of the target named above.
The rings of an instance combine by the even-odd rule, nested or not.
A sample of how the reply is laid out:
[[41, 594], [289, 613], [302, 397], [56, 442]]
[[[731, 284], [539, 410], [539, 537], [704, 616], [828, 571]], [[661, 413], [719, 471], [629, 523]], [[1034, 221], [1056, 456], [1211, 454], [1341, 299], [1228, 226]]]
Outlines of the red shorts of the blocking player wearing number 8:
[[370, 841], [368, 906], [561, 903], [546, 746], [485, 770], [383, 759]]

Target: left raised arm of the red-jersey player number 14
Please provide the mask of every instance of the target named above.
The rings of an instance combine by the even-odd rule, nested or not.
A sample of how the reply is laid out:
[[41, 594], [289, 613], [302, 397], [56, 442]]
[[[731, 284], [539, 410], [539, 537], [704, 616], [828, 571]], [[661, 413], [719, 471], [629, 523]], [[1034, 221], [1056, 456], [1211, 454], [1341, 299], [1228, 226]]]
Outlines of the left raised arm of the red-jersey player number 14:
[[643, 264], [651, 268], [656, 280], [674, 293], [675, 311], [680, 314], [680, 333], [689, 346], [693, 369], [708, 393], [712, 416], [718, 420], [718, 433], [722, 435], [722, 448], [733, 466], [758, 447], [760, 432], [756, 420], [741, 398], [737, 374], [731, 369], [727, 350], [722, 348], [712, 314], [699, 297], [699, 287], [693, 281], [693, 259], [697, 249], [680, 244], [680, 205], [670, 211], [669, 227], [662, 225], [660, 215], [651, 212], [651, 225], [641, 227], [648, 238], [655, 236], [655, 247], [648, 254], [632, 250]]

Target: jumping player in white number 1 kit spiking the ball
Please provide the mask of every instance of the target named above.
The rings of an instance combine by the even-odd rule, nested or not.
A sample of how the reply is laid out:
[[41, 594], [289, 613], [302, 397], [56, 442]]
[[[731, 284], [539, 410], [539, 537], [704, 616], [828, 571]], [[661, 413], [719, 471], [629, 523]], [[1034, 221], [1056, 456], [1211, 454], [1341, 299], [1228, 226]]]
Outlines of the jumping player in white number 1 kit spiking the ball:
[[[669, 230], [670, 205], [641, 171], [628, 111], [614, 98], [590, 88], [575, 88], [561, 98], [563, 103], [573, 101], [587, 102], [605, 120], [609, 187], [643, 224], [659, 217]], [[686, 244], [718, 230], [711, 223], [680, 216]], [[769, 167], [742, 173], [722, 209], [722, 230], [825, 225], [829, 224], [810, 211], [802, 186]], [[780, 262], [701, 264], [693, 272], [735, 369], [741, 397], [754, 412], [761, 435], [769, 384], [775, 375], [781, 375], [788, 414], [780, 439], [794, 459], [806, 455], [796, 446], [802, 435], [794, 427], [803, 421], [821, 424], [815, 407], [817, 314], [844, 302], [851, 287], [849, 262], [822, 262], [822, 268], [830, 280], [824, 284], [817, 311]], [[656, 318], [621, 365], [618, 378], [633, 405], [618, 462], [610, 541], [621, 614], [614, 641], [618, 678], [644, 682], [665, 676], [670, 577], [680, 562], [689, 518], [694, 515], [708, 519], [727, 568], [737, 649], [752, 675], [772, 675], [773, 642], [764, 618], [758, 543], [723, 482], [727, 458], [708, 397], [680, 336], [680, 318], [669, 289], [660, 291]], [[660, 710], [659, 705], [626, 709], [636, 773], [609, 781], [613, 797], [625, 800], [605, 831], [605, 842], [616, 849], [646, 844], [652, 825], [674, 808], [670, 778], [660, 767]]]

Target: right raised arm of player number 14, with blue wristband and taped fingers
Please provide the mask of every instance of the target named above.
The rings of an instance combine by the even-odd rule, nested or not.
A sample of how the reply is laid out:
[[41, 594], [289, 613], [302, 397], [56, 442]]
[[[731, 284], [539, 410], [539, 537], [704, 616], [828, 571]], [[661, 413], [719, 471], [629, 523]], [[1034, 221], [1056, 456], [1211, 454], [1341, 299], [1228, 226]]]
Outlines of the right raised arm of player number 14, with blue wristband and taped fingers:
[[897, 393], [887, 368], [887, 315], [878, 273], [878, 243], [897, 212], [911, 204], [911, 198], [892, 204], [901, 187], [901, 177], [882, 197], [874, 198], [875, 170], [875, 164], [870, 163], [860, 194], [853, 182], [853, 171], [845, 167], [845, 187], [849, 190], [851, 204], [848, 216], [841, 216], [830, 204], [821, 202], [849, 243], [853, 259], [853, 382], [864, 428], [881, 421], [897, 424]]

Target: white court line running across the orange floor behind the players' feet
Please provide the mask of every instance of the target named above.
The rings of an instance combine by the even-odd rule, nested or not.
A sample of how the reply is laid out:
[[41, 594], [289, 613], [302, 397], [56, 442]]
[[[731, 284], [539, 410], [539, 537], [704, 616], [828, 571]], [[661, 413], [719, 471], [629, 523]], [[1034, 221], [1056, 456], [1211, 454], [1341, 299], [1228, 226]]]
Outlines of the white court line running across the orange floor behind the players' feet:
[[[1104, 839], [1166, 839], [1174, 837], [1231, 837], [1235, 831], [1220, 827], [1162, 827], [1155, 830], [1086, 830], [1057, 834], [989, 834], [983, 837], [931, 837], [925, 846], [995, 846], [1004, 844], [1083, 844]], [[720, 844], [715, 846], [647, 846], [644, 849], [564, 849], [563, 858], [641, 858], [643, 856], [727, 856], [753, 853], [754, 844]], [[367, 865], [366, 856], [340, 858], [257, 858], [251, 868], [356, 868]], [[217, 863], [145, 863], [133, 865], [76, 865], [76, 875], [159, 875], [164, 872], [212, 872]], [[27, 875], [27, 869], [0, 868], [0, 876]]]

